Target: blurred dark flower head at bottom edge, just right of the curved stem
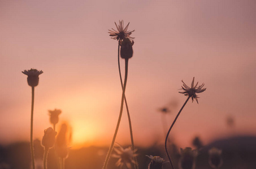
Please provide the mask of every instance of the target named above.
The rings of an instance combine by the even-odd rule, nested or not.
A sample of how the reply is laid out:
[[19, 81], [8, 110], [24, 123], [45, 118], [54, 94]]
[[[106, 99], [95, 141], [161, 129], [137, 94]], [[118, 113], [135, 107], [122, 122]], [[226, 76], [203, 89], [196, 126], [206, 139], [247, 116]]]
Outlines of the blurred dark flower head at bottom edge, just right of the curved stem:
[[179, 161], [179, 168], [180, 169], [194, 169], [196, 166], [196, 157], [197, 151], [192, 150], [192, 148], [185, 148], [181, 150], [181, 158]]

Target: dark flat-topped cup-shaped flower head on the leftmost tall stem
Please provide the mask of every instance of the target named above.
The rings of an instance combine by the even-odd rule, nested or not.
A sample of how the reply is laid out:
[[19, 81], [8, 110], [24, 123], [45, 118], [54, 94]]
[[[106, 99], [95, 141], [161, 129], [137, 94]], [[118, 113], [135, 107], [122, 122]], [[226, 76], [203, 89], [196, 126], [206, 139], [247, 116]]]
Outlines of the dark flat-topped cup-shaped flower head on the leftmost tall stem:
[[39, 75], [44, 73], [42, 72], [42, 70], [38, 71], [37, 69], [30, 69], [30, 70], [24, 70], [24, 72], [22, 72], [25, 75], [28, 75], [27, 81], [28, 81], [28, 85], [31, 87], [35, 87], [38, 85], [39, 82]]

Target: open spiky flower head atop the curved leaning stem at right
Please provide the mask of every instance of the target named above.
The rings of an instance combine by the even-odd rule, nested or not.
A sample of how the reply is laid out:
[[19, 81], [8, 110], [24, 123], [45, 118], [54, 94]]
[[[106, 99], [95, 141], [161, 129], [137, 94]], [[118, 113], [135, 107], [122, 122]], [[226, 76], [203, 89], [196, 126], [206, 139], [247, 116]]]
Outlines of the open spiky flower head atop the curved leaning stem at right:
[[[183, 82], [183, 81], [181, 81]], [[197, 82], [198, 84], [198, 82]], [[206, 88], [203, 88], [203, 86], [205, 86], [205, 84], [201, 84], [200, 86], [197, 87], [197, 84], [194, 86], [194, 77], [193, 77], [193, 81], [191, 83], [191, 87], [188, 87], [184, 82], [183, 82], [183, 86], [182, 89], [184, 90], [184, 92], [179, 92], [181, 94], [184, 94], [185, 96], [189, 96], [192, 98], [192, 102], [194, 101], [194, 99], [196, 99], [197, 103], [198, 103], [198, 100], [197, 98], [199, 98], [197, 96], [197, 93], [201, 93], [203, 91], [206, 90]]]

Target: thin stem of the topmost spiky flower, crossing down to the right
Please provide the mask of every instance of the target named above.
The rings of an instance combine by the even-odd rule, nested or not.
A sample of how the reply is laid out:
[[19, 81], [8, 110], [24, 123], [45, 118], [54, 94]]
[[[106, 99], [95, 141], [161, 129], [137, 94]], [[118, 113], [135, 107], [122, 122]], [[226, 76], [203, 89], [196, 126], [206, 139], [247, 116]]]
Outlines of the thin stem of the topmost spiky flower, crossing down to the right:
[[[119, 43], [120, 43], [120, 39], [119, 39]], [[119, 57], [119, 54], [120, 54], [120, 45], [118, 43], [118, 70], [119, 70], [119, 77], [120, 77], [120, 82], [121, 82], [121, 86], [122, 86], [122, 90], [123, 90], [123, 80], [122, 80], [122, 74], [121, 74], [121, 70], [120, 70], [120, 57]], [[124, 102], [125, 102], [125, 106], [126, 106], [126, 110], [127, 110], [127, 116], [128, 116], [128, 121], [129, 121], [129, 129], [130, 129], [130, 135], [131, 135], [131, 143], [132, 143], [132, 150], [134, 151], [134, 141], [133, 141], [133, 134], [132, 134], [132, 121], [131, 121], [131, 117], [130, 117], [130, 113], [129, 113], [129, 109], [128, 109], [128, 104], [127, 104], [127, 100], [126, 100], [126, 97], [124, 95]], [[134, 158], [134, 161], [136, 162], [134, 164], [134, 167], [135, 168], [138, 168], [137, 164], [137, 158], [136, 157], [133, 157]]]

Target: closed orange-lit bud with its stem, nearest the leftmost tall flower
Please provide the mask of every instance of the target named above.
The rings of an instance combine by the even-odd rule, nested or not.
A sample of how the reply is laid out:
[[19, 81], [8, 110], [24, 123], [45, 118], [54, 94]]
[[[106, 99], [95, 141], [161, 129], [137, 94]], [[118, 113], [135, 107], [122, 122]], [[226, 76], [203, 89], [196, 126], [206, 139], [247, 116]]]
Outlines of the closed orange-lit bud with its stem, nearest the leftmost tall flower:
[[44, 169], [47, 168], [47, 154], [49, 152], [49, 149], [54, 146], [55, 143], [55, 136], [57, 135], [57, 132], [53, 130], [53, 128], [49, 127], [45, 130], [45, 134], [42, 138], [42, 145], [45, 147], [45, 153], [44, 153]]

